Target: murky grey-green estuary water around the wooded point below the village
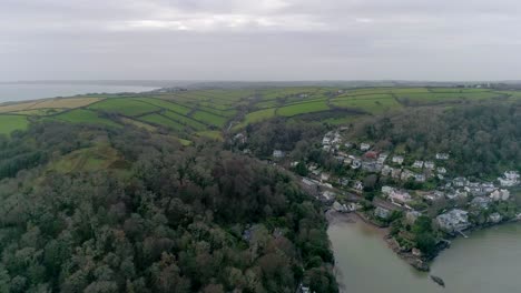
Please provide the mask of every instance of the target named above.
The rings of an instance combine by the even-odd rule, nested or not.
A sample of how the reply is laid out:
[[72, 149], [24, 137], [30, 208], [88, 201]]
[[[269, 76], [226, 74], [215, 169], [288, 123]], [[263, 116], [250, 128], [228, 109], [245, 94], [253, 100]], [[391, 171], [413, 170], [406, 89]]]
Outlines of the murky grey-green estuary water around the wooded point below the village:
[[328, 228], [342, 292], [350, 293], [512, 293], [521, 292], [521, 224], [472, 232], [456, 239], [431, 266], [441, 287], [401, 260], [383, 241], [383, 231], [357, 220]]

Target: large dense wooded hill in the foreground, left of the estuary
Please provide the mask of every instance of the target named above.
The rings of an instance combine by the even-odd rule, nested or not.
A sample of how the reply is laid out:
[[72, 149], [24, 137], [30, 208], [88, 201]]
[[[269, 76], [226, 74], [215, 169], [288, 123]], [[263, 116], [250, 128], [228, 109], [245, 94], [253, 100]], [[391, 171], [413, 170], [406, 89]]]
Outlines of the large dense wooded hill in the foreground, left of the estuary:
[[[52, 168], [98, 141], [122, 162]], [[216, 143], [45, 123], [0, 139], [0, 292], [337, 292], [318, 204]]]

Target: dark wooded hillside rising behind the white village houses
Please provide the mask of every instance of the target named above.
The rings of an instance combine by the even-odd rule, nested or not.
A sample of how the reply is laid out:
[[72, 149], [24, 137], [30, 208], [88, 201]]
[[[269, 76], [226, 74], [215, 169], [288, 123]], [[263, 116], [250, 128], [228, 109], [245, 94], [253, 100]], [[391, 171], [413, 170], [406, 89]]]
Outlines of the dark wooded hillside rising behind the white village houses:
[[521, 104], [415, 109], [371, 119], [352, 138], [419, 159], [446, 152], [455, 175], [485, 178], [521, 169]]

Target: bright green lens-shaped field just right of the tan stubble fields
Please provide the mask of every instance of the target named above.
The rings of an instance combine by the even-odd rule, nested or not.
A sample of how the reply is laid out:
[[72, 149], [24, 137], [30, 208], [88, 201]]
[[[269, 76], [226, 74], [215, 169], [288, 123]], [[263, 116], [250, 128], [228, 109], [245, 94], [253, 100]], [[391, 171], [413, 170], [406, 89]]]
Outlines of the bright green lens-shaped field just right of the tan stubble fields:
[[89, 105], [88, 109], [100, 110], [109, 113], [117, 113], [127, 117], [138, 117], [146, 113], [159, 111], [160, 108], [141, 102], [137, 99], [107, 99]]

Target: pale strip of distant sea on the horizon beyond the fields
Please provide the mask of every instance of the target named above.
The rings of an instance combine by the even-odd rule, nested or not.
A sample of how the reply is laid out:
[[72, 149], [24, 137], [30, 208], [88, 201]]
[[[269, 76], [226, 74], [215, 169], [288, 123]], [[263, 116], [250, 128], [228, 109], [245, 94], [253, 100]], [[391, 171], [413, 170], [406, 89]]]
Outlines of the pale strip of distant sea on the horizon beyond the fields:
[[37, 100], [43, 98], [71, 97], [85, 93], [118, 93], [145, 92], [158, 88], [140, 85], [110, 85], [110, 84], [26, 84], [1, 83], [0, 103]]

